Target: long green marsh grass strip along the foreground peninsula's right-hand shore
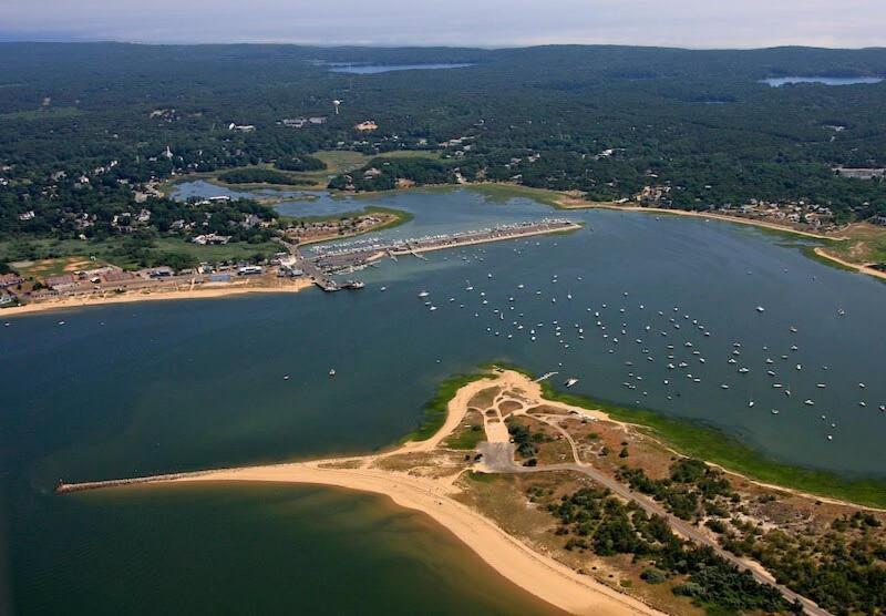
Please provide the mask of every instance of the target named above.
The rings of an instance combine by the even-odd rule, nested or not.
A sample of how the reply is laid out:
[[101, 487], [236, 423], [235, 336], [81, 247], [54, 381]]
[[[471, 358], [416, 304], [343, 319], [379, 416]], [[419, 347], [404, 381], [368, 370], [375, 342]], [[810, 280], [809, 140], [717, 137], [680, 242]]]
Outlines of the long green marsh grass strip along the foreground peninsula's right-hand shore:
[[[525, 370], [507, 366], [528, 374]], [[754, 481], [861, 505], [886, 507], [886, 481], [853, 479], [826, 471], [802, 469], [767, 458], [717, 428], [701, 422], [668, 418], [655, 411], [621, 407], [604, 400], [563, 393], [542, 383], [548, 400], [600, 410], [615, 420], [640, 427], [683, 455], [705, 460]]]

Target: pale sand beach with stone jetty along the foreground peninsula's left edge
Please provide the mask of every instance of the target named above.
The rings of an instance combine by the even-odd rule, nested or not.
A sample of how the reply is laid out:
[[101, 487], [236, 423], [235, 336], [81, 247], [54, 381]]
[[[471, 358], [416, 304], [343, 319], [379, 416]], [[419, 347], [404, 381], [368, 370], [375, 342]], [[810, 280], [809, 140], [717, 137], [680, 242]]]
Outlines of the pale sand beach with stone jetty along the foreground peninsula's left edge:
[[[467, 412], [468, 401], [493, 382], [491, 377], [493, 376], [481, 374], [476, 380], [459, 388], [455, 397], [446, 405], [447, 413], [443, 425], [432, 437], [423, 441], [409, 441], [383, 453], [60, 484], [55, 492], [66, 494], [153, 483], [195, 482], [315, 484], [369, 492], [387, 496], [398, 506], [427, 515], [453, 533], [505, 579], [554, 607], [587, 616], [663, 616], [662, 612], [640, 599], [620, 593], [591, 576], [583, 575], [550, 556], [535, 552], [517, 537], [509, 535], [493, 520], [456, 501], [453, 496], [460, 489], [454, 483], [462, 473], [451, 480], [434, 480], [405, 472], [370, 468], [372, 462], [385, 458], [433, 451], [461, 423]], [[514, 381], [524, 378], [516, 372], [509, 374], [499, 372], [494, 377]]]

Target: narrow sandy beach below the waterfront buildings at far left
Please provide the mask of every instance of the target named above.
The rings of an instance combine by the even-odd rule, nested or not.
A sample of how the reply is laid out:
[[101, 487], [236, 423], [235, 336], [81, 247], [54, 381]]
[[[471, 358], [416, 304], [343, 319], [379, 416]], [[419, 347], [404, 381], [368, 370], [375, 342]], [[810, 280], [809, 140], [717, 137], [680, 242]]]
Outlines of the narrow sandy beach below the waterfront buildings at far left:
[[257, 286], [257, 285], [218, 285], [206, 284], [188, 290], [156, 290], [156, 291], [132, 291], [119, 295], [86, 295], [78, 297], [63, 297], [59, 299], [34, 301], [24, 306], [16, 306], [0, 310], [0, 319], [6, 317], [19, 317], [22, 315], [33, 315], [37, 312], [49, 312], [54, 310], [66, 310], [70, 308], [82, 308], [85, 306], [103, 306], [107, 304], [132, 304], [135, 301], [168, 301], [179, 299], [212, 299], [217, 297], [229, 297], [235, 295], [268, 294], [268, 292], [298, 292], [312, 285], [310, 280], [291, 280], [279, 286]]

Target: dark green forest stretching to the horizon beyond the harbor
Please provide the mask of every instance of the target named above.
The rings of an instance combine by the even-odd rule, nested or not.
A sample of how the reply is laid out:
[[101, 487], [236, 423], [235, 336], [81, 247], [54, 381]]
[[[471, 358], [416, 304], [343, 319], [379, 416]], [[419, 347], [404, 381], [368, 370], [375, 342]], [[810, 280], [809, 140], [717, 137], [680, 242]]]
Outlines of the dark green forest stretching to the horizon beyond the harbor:
[[[821, 204], [842, 220], [886, 214], [882, 179], [833, 171], [886, 167], [886, 82], [761, 83], [886, 75], [886, 50], [9, 43], [0, 52], [0, 243], [131, 233], [114, 217], [176, 207], [150, 189], [145, 198], [152, 183], [258, 164], [228, 177], [284, 182], [320, 171], [310, 156], [320, 150], [435, 154], [373, 160], [332, 188], [508, 181], [622, 199], [658, 187], [664, 207], [761, 199]], [[472, 65], [357, 75], [330, 72], [330, 62]], [[367, 120], [378, 127], [358, 131]]]

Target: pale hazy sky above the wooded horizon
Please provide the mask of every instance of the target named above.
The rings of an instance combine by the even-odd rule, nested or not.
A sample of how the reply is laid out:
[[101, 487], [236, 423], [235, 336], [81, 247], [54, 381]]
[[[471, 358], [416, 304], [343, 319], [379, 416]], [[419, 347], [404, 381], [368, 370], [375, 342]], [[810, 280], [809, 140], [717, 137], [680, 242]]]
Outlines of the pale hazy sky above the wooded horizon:
[[886, 47], [884, 0], [0, 0], [21, 40]]

